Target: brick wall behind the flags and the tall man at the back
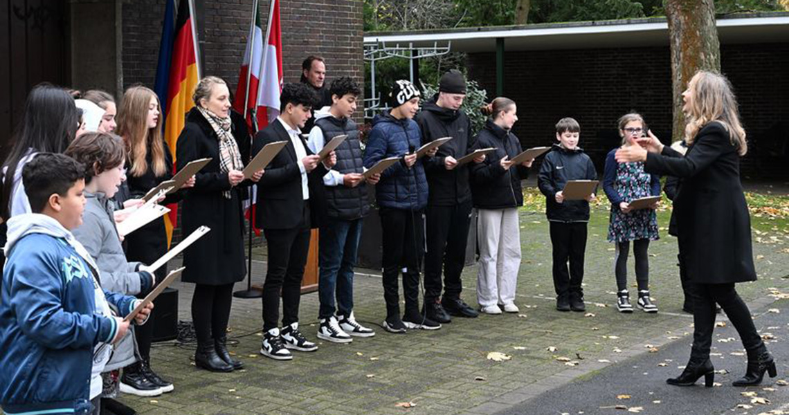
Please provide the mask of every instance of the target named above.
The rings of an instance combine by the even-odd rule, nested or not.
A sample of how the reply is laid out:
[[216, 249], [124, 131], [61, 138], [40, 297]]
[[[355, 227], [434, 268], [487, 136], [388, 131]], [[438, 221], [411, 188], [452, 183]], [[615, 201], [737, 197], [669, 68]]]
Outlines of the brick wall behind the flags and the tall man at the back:
[[[185, 0], [184, 0], [185, 1]], [[200, 4], [202, 3], [202, 4]], [[123, 4], [123, 84], [153, 86], [164, 0], [134, 0]], [[282, 70], [285, 82], [297, 82], [301, 61], [309, 54], [326, 59], [327, 79], [353, 77], [364, 82], [361, 0], [312, 0], [280, 3]], [[264, 24], [269, 2], [260, 0]], [[200, 51], [205, 75], [226, 80], [236, 90], [252, 0], [196, 0]]]

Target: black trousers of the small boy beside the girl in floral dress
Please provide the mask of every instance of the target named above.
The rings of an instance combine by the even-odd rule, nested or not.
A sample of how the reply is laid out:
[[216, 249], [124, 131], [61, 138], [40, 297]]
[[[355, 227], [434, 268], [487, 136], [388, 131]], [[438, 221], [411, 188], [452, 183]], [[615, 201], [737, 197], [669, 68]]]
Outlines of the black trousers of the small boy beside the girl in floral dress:
[[[556, 295], [583, 293], [586, 222], [550, 222]], [[567, 262], [570, 270], [567, 270]]]

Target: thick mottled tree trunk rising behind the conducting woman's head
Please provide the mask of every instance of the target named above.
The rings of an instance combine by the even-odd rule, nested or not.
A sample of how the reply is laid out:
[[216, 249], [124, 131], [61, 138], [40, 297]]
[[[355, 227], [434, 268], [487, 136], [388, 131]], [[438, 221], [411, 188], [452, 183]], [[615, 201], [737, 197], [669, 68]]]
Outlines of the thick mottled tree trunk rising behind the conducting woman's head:
[[668, 36], [671, 43], [671, 90], [674, 125], [671, 140], [682, 140], [685, 114], [682, 92], [699, 70], [720, 72], [720, 43], [712, 0], [666, 0]]

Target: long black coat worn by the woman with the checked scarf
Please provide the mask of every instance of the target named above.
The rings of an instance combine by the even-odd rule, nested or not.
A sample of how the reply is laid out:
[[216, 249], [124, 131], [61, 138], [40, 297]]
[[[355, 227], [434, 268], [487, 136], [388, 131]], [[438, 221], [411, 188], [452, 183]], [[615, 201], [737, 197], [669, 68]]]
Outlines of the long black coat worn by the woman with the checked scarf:
[[[234, 132], [234, 138], [241, 154], [249, 154], [249, 136]], [[181, 204], [181, 232], [186, 236], [203, 225], [211, 232], [184, 252], [186, 269], [181, 279], [219, 286], [241, 281], [246, 275], [241, 187], [249, 183], [230, 187], [227, 174], [219, 171], [219, 138], [200, 111], [193, 108], [178, 136], [178, 170], [190, 161], [208, 157], [211, 163], [195, 175], [195, 185], [186, 191]], [[222, 195], [225, 190], [230, 190], [230, 199]]]

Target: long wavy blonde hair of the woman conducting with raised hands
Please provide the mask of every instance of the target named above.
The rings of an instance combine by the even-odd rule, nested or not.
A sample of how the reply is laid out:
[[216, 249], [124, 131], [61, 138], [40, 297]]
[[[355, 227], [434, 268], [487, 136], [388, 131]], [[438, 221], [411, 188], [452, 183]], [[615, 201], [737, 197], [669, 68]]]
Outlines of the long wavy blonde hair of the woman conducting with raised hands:
[[748, 151], [745, 129], [739, 119], [737, 97], [732, 91], [731, 83], [720, 73], [698, 71], [688, 82], [688, 90], [692, 94], [690, 111], [686, 114], [688, 123], [685, 127], [685, 140], [693, 144], [693, 140], [701, 127], [710, 122], [720, 122], [731, 136], [731, 144], [737, 148], [739, 155]]

